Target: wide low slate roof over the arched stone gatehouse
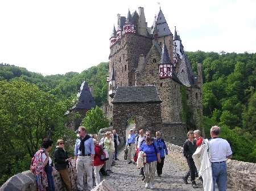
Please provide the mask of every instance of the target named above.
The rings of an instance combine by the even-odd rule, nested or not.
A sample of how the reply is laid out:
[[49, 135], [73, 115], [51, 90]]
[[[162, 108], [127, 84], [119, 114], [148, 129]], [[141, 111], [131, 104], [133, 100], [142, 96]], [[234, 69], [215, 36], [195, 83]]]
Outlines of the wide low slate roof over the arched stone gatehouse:
[[155, 86], [119, 86], [112, 103], [161, 102]]

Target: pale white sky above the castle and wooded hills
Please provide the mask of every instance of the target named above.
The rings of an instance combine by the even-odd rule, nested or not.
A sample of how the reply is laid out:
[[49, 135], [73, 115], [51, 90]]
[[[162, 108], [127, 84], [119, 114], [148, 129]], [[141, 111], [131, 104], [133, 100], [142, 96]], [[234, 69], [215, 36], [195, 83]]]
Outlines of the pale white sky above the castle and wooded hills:
[[43, 75], [108, 62], [117, 14], [159, 9], [187, 52], [256, 53], [256, 0], [0, 0], [0, 63]]

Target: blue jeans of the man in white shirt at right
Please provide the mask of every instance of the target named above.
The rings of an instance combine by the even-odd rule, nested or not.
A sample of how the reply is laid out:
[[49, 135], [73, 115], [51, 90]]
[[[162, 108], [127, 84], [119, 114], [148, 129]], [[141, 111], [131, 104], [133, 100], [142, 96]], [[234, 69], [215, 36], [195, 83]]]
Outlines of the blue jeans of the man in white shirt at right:
[[226, 191], [227, 173], [226, 163], [212, 163], [212, 179], [213, 191], [215, 191], [215, 183], [217, 183], [219, 191]]

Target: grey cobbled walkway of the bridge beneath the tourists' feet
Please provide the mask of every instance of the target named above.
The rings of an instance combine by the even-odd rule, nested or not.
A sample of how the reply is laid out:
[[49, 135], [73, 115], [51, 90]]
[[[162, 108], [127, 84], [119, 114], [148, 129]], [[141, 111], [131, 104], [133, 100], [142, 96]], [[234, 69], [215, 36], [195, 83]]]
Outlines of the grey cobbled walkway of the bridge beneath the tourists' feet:
[[[127, 160], [123, 159], [123, 152], [119, 152], [118, 159], [110, 176], [102, 176], [101, 180], [105, 179], [115, 186], [120, 191], [132, 190], [151, 190], [144, 188], [145, 183], [142, 181], [142, 176], [139, 175], [139, 169], [136, 164], [127, 164]], [[203, 182], [197, 180], [199, 188], [194, 189], [190, 184], [183, 182], [182, 176], [185, 175], [187, 169], [175, 163], [170, 156], [166, 156], [164, 160], [163, 174], [161, 177], [155, 177], [154, 190], [204, 190]]]

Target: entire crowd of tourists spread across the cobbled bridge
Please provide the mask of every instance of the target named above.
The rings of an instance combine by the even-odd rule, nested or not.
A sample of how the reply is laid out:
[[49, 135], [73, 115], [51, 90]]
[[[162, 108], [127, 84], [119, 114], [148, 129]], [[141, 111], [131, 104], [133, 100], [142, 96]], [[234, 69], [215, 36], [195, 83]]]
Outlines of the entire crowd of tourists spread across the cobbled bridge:
[[[130, 133], [126, 140], [126, 148], [128, 150], [128, 164], [135, 164], [139, 168], [139, 175], [146, 183], [145, 188], [154, 189], [155, 172], [157, 176], [163, 173], [163, 165], [165, 155], [168, 150], [164, 139], [160, 137], [160, 132], [156, 131], [155, 137], [151, 137], [151, 132], [146, 131], [144, 135], [143, 129], [139, 130], [139, 134], [133, 133], [134, 129], [130, 129]], [[93, 189], [93, 173], [96, 185], [100, 184], [100, 172], [102, 175], [109, 176], [113, 171], [110, 169], [114, 165], [117, 158], [117, 147], [120, 138], [116, 132], [107, 131], [98, 142], [97, 135], [92, 137], [86, 134], [86, 128], [80, 126], [77, 130], [79, 138], [75, 143], [75, 158], [77, 172], [77, 191], [84, 190], [84, 173], [86, 173], [87, 186], [89, 190]], [[199, 176], [199, 180], [203, 181], [204, 190], [215, 190], [217, 183], [218, 190], [226, 190], [227, 173], [226, 158], [232, 158], [232, 151], [228, 141], [219, 137], [220, 128], [213, 126], [210, 129], [211, 139], [201, 137], [200, 130], [188, 131], [187, 140], [183, 145], [183, 154], [187, 159], [189, 171], [183, 180], [188, 184], [188, 177], [191, 177], [193, 188], [198, 188], [195, 177]], [[38, 190], [55, 191], [52, 172], [57, 170], [64, 181], [68, 191], [72, 190], [71, 177], [69, 177], [69, 165], [72, 160], [64, 150], [64, 140], [57, 140], [57, 146], [54, 152], [53, 160], [49, 156], [52, 149], [53, 141], [44, 138], [42, 148], [36, 152], [31, 163], [31, 171], [36, 176]], [[107, 152], [108, 160], [104, 160]], [[102, 156], [103, 155], [103, 156]], [[70, 172], [71, 175], [71, 172]], [[75, 178], [75, 176], [74, 176]]]

